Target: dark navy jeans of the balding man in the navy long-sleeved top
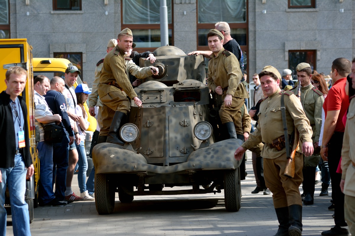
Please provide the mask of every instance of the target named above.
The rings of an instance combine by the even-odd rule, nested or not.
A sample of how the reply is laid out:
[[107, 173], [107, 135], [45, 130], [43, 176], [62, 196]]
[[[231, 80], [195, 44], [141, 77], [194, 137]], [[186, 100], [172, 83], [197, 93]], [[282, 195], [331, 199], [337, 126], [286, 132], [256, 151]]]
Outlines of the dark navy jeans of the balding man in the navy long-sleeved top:
[[63, 201], [66, 190], [66, 171], [69, 161], [69, 138], [63, 136], [61, 143], [53, 144], [53, 181], [52, 188], [55, 182], [55, 198], [58, 201]]

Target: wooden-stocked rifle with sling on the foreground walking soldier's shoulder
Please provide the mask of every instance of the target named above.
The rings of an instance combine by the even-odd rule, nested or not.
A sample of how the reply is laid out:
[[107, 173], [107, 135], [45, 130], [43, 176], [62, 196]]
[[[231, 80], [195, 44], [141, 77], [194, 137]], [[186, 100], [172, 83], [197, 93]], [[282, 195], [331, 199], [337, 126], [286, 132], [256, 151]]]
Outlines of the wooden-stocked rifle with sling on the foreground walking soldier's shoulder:
[[[301, 83], [298, 81], [298, 86], [297, 86], [297, 97], [301, 100]], [[281, 99], [283, 103], [283, 98]], [[281, 104], [282, 107], [285, 107], [284, 104]], [[286, 146], [286, 156], [287, 156], [287, 164], [285, 168], [284, 175], [288, 178], [293, 178], [295, 175], [295, 154], [296, 150], [298, 149], [299, 146], [299, 137], [300, 133], [298, 132], [297, 128], [295, 127], [294, 129], [294, 136], [293, 136], [293, 145], [292, 149], [290, 151], [290, 143], [288, 140], [288, 133], [287, 133], [287, 125], [286, 125], [286, 113], [285, 110], [282, 110], [283, 112], [283, 123], [284, 123], [284, 130], [285, 130], [285, 146]]]

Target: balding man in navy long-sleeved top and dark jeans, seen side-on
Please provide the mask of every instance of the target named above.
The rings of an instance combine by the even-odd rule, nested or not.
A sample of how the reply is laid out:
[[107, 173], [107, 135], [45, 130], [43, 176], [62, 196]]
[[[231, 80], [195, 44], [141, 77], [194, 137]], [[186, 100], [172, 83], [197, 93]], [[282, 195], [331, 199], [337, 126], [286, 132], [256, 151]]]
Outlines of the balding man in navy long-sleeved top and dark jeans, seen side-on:
[[55, 76], [50, 80], [50, 90], [44, 95], [49, 108], [54, 114], [62, 117], [59, 125], [64, 128], [61, 143], [53, 144], [53, 182], [55, 181], [55, 198], [64, 201], [66, 190], [66, 172], [69, 160], [69, 145], [74, 142], [74, 131], [66, 112], [65, 99], [62, 94], [65, 87], [64, 80]]

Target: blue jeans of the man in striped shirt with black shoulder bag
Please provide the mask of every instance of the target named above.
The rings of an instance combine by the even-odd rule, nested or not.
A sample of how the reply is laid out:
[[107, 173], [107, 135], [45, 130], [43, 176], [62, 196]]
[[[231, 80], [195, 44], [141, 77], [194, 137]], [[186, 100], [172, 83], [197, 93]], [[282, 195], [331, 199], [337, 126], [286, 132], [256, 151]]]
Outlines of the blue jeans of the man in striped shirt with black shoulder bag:
[[38, 201], [48, 203], [55, 198], [53, 192], [53, 146], [44, 141], [37, 145], [39, 156], [39, 196]]

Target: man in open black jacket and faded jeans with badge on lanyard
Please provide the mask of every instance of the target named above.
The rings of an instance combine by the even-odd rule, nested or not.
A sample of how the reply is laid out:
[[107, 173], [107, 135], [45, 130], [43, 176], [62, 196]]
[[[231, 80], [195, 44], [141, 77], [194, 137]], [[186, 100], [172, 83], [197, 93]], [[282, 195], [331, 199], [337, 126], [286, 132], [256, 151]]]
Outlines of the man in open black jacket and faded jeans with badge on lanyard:
[[12, 228], [15, 235], [31, 235], [28, 206], [24, 200], [26, 177], [34, 167], [29, 152], [27, 107], [20, 94], [26, 86], [27, 71], [11, 67], [6, 71], [6, 91], [0, 94], [0, 234], [6, 235], [6, 184], [9, 188]]

